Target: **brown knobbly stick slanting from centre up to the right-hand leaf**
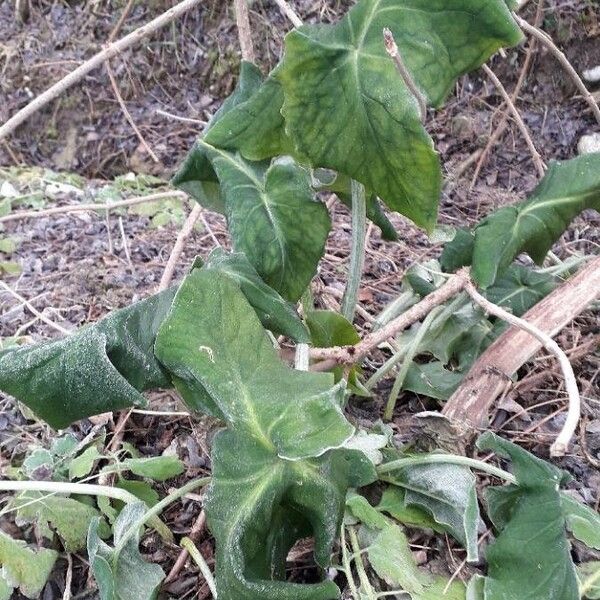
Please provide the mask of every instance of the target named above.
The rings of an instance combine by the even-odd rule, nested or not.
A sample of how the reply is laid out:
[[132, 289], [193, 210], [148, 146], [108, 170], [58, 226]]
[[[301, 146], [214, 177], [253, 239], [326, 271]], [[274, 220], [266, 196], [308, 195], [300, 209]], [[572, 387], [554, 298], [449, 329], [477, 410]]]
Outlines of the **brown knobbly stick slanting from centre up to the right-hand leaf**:
[[314, 365], [315, 370], [327, 370], [332, 366], [358, 362], [386, 340], [395, 337], [413, 323], [424, 319], [433, 308], [463, 291], [469, 281], [468, 270], [461, 269], [458, 273], [452, 275], [442, 287], [425, 296], [421, 302], [409, 308], [398, 318], [390, 321], [385, 327], [370, 333], [354, 346], [313, 348], [310, 353], [311, 358], [323, 361]]

